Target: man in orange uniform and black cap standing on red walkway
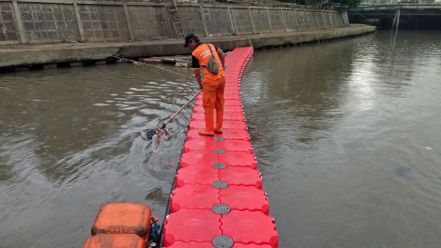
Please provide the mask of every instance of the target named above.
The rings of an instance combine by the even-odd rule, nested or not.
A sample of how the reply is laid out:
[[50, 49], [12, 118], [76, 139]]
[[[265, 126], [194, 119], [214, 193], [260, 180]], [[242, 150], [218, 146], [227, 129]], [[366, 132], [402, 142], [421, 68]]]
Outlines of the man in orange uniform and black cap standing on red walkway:
[[[199, 130], [199, 134], [214, 136], [214, 132], [222, 134], [223, 123], [223, 92], [225, 89], [225, 56], [220, 48], [213, 44], [201, 43], [194, 34], [187, 34], [185, 37], [185, 48], [192, 50], [192, 69], [194, 76], [202, 89], [202, 105], [205, 110], [205, 130]], [[210, 50], [211, 48], [211, 50]], [[212, 55], [213, 54], [213, 55]], [[207, 63], [210, 56], [216, 59], [219, 70], [212, 73], [207, 70]], [[199, 68], [202, 67], [204, 79], [201, 79]], [[216, 127], [214, 127], [214, 109], [216, 109]]]

